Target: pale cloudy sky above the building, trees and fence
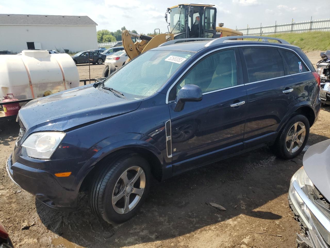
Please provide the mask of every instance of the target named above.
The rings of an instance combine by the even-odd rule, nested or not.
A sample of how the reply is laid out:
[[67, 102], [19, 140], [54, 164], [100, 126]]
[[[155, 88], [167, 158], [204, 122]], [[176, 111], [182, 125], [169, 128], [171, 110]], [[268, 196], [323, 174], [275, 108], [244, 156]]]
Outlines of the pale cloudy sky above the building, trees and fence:
[[[89, 16], [98, 26], [97, 30], [116, 31], [122, 26], [138, 33], [151, 33], [155, 28], [167, 32], [165, 12], [168, 7], [178, 5], [176, 0], [0, 0], [0, 14], [68, 15]], [[330, 0], [226, 0], [196, 2], [213, 4], [217, 8], [216, 22], [225, 27], [245, 28], [294, 21], [329, 18], [323, 11], [324, 3]], [[322, 4], [317, 4], [322, 3]]]

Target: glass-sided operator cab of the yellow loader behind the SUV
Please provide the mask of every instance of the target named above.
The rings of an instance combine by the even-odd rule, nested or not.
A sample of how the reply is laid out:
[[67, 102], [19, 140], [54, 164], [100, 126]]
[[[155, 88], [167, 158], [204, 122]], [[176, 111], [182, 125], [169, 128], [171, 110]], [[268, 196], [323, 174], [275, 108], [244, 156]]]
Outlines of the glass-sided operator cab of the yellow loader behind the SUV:
[[174, 39], [215, 38], [216, 8], [213, 6], [180, 4], [168, 8], [165, 19], [169, 21], [169, 32], [174, 34]]

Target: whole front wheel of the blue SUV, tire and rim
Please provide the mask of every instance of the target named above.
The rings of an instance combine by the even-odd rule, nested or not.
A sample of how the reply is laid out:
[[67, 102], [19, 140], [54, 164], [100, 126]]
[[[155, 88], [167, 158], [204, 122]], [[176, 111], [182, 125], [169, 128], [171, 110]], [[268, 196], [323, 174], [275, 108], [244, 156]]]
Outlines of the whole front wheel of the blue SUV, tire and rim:
[[122, 223], [139, 211], [150, 185], [150, 167], [138, 154], [126, 154], [104, 167], [90, 188], [90, 206], [106, 222]]

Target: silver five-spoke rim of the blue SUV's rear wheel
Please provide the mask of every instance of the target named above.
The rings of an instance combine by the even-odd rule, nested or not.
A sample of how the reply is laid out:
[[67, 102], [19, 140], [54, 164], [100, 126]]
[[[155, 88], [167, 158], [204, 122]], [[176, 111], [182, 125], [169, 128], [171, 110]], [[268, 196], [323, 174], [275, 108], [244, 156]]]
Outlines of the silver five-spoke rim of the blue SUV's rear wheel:
[[306, 128], [304, 123], [298, 121], [292, 125], [286, 135], [286, 149], [288, 152], [293, 153], [299, 150], [303, 145], [306, 136]]

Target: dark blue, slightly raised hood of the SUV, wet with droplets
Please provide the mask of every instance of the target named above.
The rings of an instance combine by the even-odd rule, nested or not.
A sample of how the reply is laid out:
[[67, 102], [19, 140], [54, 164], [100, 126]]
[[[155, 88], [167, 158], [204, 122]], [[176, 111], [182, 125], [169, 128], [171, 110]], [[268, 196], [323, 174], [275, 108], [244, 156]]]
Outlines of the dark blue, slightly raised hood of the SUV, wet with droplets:
[[93, 85], [32, 100], [18, 113], [26, 133], [64, 131], [92, 121], [136, 110], [142, 100], [127, 100]]

